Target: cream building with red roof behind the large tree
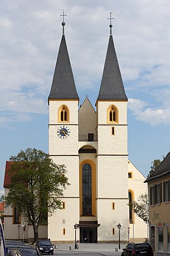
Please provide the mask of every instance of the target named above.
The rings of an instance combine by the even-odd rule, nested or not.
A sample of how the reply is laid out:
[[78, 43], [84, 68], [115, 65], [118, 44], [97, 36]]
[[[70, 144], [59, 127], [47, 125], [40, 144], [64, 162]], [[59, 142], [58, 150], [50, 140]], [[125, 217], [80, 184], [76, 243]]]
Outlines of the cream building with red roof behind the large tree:
[[[10, 185], [9, 169], [12, 162], [7, 161], [5, 166], [4, 177], [4, 196], [7, 196]], [[47, 225], [40, 225], [38, 229], [39, 238], [47, 238]], [[33, 242], [33, 227], [32, 224], [25, 222], [24, 218], [19, 214], [16, 207], [4, 208], [4, 236], [7, 240], [24, 240]]]

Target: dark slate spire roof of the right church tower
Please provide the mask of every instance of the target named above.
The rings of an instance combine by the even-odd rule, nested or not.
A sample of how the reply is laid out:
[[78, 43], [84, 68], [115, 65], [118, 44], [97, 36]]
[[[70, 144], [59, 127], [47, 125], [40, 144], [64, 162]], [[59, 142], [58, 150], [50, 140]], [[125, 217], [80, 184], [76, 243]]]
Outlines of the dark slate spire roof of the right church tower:
[[101, 80], [100, 91], [97, 98], [97, 101], [100, 100], [127, 101], [127, 96], [124, 91], [123, 80], [121, 78], [120, 68], [118, 65], [112, 35], [110, 35], [109, 38], [106, 60], [103, 69], [103, 77]]

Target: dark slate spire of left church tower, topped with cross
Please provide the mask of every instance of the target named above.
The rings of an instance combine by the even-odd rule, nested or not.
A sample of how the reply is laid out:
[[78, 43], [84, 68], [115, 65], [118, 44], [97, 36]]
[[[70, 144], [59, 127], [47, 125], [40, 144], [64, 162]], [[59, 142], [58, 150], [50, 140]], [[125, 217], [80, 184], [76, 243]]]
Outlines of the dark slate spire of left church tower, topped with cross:
[[78, 100], [79, 97], [75, 87], [75, 81], [72, 73], [72, 66], [70, 64], [69, 53], [67, 51], [66, 38], [64, 35], [64, 10], [63, 10], [63, 35], [61, 38], [58, 57], [56, 60], [55, 71], [53, 74], [52, 87], [49, 94], [50, 99], [72, 99]]

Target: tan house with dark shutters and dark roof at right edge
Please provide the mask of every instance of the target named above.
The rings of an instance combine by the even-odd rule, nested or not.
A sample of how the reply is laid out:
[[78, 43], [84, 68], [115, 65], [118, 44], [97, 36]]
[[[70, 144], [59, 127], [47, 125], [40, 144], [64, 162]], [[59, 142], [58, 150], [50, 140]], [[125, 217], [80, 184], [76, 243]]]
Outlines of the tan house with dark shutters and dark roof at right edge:
[[170, 253], [170, 152], [148, 182], [149, 237], [156, 254]]

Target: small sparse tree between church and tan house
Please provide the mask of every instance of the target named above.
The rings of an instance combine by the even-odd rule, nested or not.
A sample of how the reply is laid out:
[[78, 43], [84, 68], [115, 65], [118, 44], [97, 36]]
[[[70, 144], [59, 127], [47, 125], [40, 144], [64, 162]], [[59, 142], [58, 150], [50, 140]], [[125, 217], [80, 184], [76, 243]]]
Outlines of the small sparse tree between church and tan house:
[[[132, 207], [132, 203], [131, 203]], [[138, 202], [134, 201], [134, 213], [143, 219], [144, 222], [148, 222], [148, 194], [141, 194], [138, 198]]]

